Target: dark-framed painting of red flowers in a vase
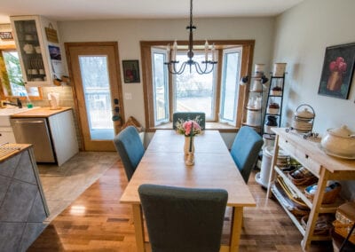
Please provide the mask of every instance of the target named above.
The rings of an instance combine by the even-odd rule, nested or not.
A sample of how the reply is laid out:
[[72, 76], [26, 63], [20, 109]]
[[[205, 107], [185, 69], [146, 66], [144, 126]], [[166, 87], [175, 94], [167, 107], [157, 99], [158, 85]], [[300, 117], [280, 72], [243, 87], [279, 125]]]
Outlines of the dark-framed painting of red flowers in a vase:
[[355, 62], [355, 43], [329, 46], [320, 76], [319, 95], [347, 99]]

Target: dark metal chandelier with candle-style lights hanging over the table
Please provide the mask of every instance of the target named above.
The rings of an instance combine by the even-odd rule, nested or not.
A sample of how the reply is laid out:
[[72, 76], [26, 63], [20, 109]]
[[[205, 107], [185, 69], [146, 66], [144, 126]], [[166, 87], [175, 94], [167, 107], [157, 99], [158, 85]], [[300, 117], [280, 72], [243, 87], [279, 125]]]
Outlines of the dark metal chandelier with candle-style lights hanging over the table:
[[168, 66], [170, 74], [173, 75], [181, 75], [185, 71], [186, 65], [190, 68], [190, 73], [192, 68], [194, 67], [196, 73], [199, 75], [209, 74], [213, 71], [214, 66], [217, 64], [216, 60], [216, 48], [213, 43], [210, 49], [211, 52], [211, 60], [209, 60], [209, 43], [206, 41], [204, 44], [205, 51], [205, 60], [201, 61], [201, 65], [193, 60], [193, 29], [196, 29], [193, 26], [193, 0], [190, 0], [190, 25], [186, 27], [189, 30], [189, 43], [187, 50], [187, 60], [184, 61], [180, 67], [177, 67], [179, 61], [177, 60], [177, 41], [175, 40], [172, 51], [171, 51], [171, 59], [170, 58], [170, 43], [167, 45], [167, 53], [168, 53], [168, 62], [164, 62], [165, 65]]

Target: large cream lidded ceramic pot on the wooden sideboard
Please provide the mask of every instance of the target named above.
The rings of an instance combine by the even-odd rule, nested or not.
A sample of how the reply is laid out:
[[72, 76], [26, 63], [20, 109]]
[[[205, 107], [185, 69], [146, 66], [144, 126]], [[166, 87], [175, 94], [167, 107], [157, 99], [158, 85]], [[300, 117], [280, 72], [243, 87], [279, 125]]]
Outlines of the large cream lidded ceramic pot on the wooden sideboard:
[[346, 125], [340, 128], [328, 129], [321, 139], [320, 146], [330, 155], [344, 158], [355, 158], [355, 132], [351, 132]]

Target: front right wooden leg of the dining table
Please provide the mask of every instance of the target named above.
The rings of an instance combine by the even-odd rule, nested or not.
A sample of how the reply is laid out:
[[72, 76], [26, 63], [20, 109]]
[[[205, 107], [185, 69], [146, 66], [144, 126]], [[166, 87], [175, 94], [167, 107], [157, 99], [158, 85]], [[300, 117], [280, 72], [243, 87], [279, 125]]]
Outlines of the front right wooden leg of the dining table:
[[241, 224], [243, 220], [243, 208], [233, 207], [232, 224], [231, 224], [231, 240], [229, 251], [239, 251], [239, 243], [241, 240]]

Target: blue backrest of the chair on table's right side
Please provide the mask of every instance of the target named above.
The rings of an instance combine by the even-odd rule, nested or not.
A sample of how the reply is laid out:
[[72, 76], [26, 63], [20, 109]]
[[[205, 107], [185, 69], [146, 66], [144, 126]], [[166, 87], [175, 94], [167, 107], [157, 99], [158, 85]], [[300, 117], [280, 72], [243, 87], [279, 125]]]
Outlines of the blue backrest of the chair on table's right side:
[[248, 126], [241, 127], [234, 139], [231, 154], [245, 183], [248, 183], [250, 172], [256, 164], [263, 144], [263, 138]]

